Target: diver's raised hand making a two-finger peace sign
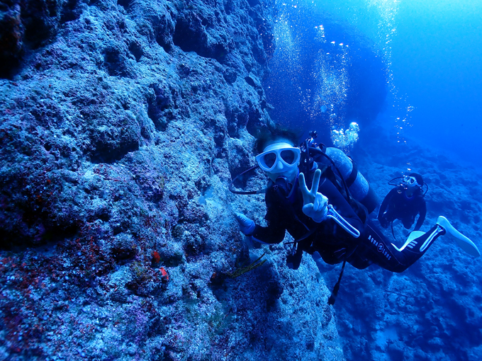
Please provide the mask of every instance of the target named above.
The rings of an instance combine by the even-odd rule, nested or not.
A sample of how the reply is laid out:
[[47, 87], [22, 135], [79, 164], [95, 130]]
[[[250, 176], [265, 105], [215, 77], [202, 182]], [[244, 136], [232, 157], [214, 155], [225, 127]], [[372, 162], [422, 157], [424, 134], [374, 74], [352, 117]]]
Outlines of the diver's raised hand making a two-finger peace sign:
[[320, 223], [327, 216], [328, 212], [328, 198], [318, 192], [318, 185], [320, 185], [321, 171], [317, 169], [315, 176], [313, 176], [313, 184], [311, 190], [308, 190], [305, 181], [305, 175], [300, 173], [299, 181], [301, 193], [303, 194], [303, 213], [313, 219], [313, 221]]

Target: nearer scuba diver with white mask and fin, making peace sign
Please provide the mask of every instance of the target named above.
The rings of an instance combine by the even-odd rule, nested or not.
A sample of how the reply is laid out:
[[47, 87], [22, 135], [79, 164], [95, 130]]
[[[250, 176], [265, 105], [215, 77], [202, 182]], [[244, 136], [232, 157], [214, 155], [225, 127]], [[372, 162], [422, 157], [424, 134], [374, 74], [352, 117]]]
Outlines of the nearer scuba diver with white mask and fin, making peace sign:
[[[236, 213], [235, 218], [245, 236], [261, 243], [280, 243], [288, 231], [294, 239], [286, 258], [289, 268], [299, 267], [303, 251], [311, 255], [318, 252], [328, 264], [343, 262], [329, 304], [335, 302], [346, 262], [358, 269], [374, 263], [400, 273], [445, 234], [452, 236], [471, 256], [480, 256], [476, 245], [442, 216], [430, 231], [413, 231], [400, 248], [390, 243], [367, 217], [376, 207], [376, 197], [369, 187], [361, 191], [367, 182], [359, 172], [353, 171], [354, 163], [340, 149], [315, 144], [313, 132], [310, 136], [301, 147], [294, 145], [296, 136], [286, 131], [265, 134], [258, 139], [257, 166], [269, 177], [264, 190], [267, 227], [255, 224], [245, 214]], [[256, 166], [247, 171], [254, 168]], [[233, 190], [235, 181], [236, 178], [230, 184], [233, 193], [262, 193]], [[357, 193], [358, 199], [354, 197]]]

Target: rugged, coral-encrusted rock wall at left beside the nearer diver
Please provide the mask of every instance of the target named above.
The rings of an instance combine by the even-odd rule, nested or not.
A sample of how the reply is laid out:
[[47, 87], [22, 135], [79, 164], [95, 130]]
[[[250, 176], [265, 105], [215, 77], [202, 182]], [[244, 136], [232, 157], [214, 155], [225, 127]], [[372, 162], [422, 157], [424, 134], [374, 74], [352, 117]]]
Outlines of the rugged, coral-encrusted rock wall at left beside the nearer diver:
[[313, 260], [232, 217], [264, 216], [228, 184], [270, 122], [272, 1], [0, 11], [0, 358], [344, 360]]

